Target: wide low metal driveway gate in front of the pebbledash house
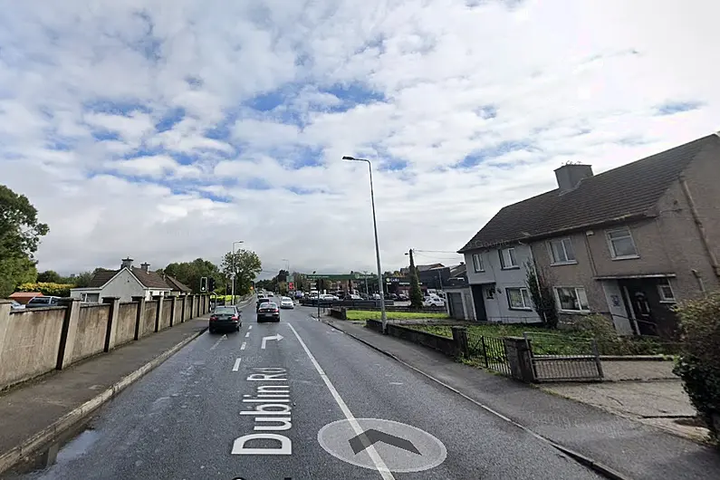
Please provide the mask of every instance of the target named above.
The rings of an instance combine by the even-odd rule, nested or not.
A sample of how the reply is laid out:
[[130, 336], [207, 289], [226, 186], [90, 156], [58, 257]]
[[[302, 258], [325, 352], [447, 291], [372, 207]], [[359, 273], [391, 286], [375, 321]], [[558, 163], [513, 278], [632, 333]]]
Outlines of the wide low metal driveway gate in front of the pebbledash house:
[[600, 380], [598, 342], [555, 333], [523, 332], [538, 381]]

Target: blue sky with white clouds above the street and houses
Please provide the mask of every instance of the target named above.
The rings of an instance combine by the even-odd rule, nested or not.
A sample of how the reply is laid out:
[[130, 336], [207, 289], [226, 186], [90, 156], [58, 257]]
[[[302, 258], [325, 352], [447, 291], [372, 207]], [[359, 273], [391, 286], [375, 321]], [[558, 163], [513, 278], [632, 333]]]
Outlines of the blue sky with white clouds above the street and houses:
[[[720, 129], [714, 0], [0, 0], [0, 183], [41, 270], [383, 270]], [[459, 261], [452, 254], [418, 263]]]

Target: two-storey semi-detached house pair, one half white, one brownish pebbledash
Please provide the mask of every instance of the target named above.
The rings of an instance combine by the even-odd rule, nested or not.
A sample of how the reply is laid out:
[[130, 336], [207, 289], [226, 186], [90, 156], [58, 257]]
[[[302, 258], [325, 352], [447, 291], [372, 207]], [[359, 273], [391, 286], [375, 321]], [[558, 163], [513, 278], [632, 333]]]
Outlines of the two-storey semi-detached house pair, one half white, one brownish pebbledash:
[[677, 301], [720, 287], [717, 135], [600, 175], [569, 164], [555, 176], [557, 188], [505, 206], [459, 251], [478, 320], [540, 321], [528, 268], [562, 317], [603, 313], [622, 334], [669, 336]]

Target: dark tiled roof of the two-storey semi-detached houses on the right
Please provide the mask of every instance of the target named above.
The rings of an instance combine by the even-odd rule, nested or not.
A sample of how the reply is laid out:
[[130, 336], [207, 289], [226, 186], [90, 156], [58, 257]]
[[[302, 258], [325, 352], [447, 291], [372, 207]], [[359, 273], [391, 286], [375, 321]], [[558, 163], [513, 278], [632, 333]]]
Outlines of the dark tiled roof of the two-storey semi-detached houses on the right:
[[458, 253], [630, 217], [652, 216], [651, 208], [693, 158], [708, 146], [720, 146], [720, 138], [708, 135], [584, 178], [578, 187], [562, 195], [560, 189], [555, 188], [504, 206]]

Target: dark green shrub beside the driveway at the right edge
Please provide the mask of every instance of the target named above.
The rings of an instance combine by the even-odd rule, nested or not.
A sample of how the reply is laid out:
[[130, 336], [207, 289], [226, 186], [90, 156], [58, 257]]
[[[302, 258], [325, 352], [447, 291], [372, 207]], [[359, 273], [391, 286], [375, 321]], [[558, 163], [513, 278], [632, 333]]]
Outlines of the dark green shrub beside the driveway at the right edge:
[[711, 436], [720, 439], [720, 292], [677, 306], [682, 350], [675, 369]]

